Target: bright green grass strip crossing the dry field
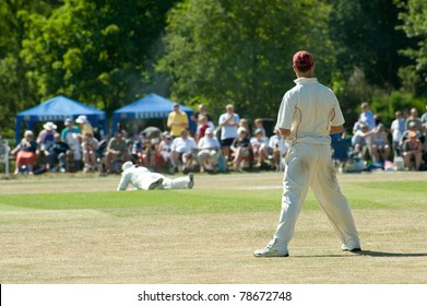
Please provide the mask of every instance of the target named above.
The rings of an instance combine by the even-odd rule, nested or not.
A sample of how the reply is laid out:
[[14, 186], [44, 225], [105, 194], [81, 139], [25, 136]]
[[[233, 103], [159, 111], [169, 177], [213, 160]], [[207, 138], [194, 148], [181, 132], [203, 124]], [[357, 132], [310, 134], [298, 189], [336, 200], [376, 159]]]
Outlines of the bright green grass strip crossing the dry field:
[[[220, 178], [221, 179], [221, 178]], [[240, 179], [240, 177], [236, 177]], [[344, 185], [353, 209], [423, 209], [426, 208], [427, 181], [369, 181]], [[224, 190], [155, 190], [150, 192], [54, 192], [36, 195], [4, 195], [0, 209], [118, 211], [124, 215], [139, 213], [226, 213], [262, 212], [275, 210], [282, 190], [271, 189]], [[91, 199], [91, 202], [87, 202]], [[10, 208], [8, 208], [10, 209]], [[306, 210], [318, 210], [309, 193]]]

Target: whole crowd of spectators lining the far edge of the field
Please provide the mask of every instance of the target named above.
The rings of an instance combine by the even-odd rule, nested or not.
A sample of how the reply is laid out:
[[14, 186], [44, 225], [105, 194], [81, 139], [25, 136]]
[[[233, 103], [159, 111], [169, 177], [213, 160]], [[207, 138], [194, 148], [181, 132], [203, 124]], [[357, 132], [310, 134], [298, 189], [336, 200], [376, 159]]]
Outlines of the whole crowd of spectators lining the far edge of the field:
[[[189, 120], [197, 125], [189, 131]], [[262, 119], [248, 122], [226, 105], [214, 121], [204, 105], [189, 118], [174, 104], [167, 118], [167, 130], [147, 127], [131, 136], [121, 126], [112, 136], [102, 138], [87, 120], [67, 118], [63, 129], [46, 122], [35, 137], [26, 130], [22, 141], [11, 151], [15, 174], [46, 172], [120, 173], [131, 161], [155, 172], [244, 172], [283, 168], [287, 146], [277, 130], [268, 137]], [[427, 163], [427, 107], [418, 117], [416, 108], [395, 111], [390, 126], [361, 104], [359, 119], [348, 141], [348, 155], [384, 168], [387, 163], [401, 163], [406, 169], [425, 169]], [[392, 163], [392, 162], [391, 162]]]

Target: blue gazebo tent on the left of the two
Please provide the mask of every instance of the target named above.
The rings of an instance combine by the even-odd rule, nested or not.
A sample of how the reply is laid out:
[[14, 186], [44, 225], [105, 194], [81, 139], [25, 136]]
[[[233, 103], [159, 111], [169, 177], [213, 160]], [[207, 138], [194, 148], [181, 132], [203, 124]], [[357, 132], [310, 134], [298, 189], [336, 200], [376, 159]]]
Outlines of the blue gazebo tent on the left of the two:
[[27, 129], [32, 130], [34, 122], [63, 121], [66, 118], [76, 119], [80, 115], [85, 115], [93, 127], [102, 126], [104, 133], [107, 133], [107, 118], [104, 110], [59, 95], [16, 115], [16, 143], [21, 140], [23, 122], [26, 123]]

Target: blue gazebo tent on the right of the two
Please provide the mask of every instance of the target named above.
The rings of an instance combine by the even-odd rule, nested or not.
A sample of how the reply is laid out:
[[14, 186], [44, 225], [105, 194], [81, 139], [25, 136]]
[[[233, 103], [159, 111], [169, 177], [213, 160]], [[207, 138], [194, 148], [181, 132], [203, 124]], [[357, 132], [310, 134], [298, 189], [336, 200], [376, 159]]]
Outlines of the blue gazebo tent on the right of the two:
[[[167, 118], [175, 102], [156, 94], [150, 94], [145, 97], [123, 106], [112, 113], [111, 133], [116, 132], [117, 123], [126, 119], [159, 119]], [[193, 110], [187, 106], [179, 105], [179, 109], [188, 116], [189, 129], [195, 131], [195, 123], [190, 119]]]

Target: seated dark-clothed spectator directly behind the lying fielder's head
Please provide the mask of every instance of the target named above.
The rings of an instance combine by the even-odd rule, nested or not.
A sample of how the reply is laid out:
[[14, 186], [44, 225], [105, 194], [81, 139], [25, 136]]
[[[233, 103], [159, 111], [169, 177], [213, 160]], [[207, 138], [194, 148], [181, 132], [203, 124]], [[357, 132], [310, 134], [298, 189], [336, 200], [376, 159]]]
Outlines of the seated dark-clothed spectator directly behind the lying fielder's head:
[[128, 162], [130, 160], [128, 150], [128, 143], [122, 138], [120, 130], [117, 130], [115, 136], [108, 141], [107, 149], [105, 152], [105, 169], [107, 173], [115, 173], [120, 169], [114, 168], [115, 162]]

